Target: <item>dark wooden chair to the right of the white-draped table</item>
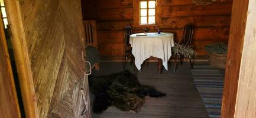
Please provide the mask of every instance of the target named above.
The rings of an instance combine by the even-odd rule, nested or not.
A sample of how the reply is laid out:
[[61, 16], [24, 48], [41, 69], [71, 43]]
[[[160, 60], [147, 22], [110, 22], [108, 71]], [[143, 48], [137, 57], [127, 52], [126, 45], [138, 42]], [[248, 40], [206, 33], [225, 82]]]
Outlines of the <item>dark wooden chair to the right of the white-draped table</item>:
[[[182, 38], [180, 39], [179, 43], [180, 44], [192, 44], [192, 39], [193, 39], [193, 32], [194, 32], [194, 27], [193, 25], [185, 25], [183, 28], [183, 34], [182, 34]], [[174, 73], [176, 72], [176, 62], [179, 58], [178, 57], [174, 57]], [[183, 64], [183, 57], [180, 57], [180, 64]], [[190, 68], [193, 68], [193, 65], [191, 63], [191, 58], [189, 58], [189, 65]]]

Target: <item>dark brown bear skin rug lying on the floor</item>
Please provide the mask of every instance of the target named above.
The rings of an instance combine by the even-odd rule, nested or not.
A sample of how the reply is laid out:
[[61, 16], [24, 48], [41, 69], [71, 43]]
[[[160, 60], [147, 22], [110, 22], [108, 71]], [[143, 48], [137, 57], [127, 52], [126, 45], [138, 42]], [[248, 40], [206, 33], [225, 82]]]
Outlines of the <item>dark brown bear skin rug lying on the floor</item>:
[[127, 112], [140, 112], [145, 96], [161, 98], [166, 94], [150, 86], [142, 86], [128, 70], [109, 76], [89, 77], [90, 93], [94, 94], [93, 112], [102, 113], [109, 106]]

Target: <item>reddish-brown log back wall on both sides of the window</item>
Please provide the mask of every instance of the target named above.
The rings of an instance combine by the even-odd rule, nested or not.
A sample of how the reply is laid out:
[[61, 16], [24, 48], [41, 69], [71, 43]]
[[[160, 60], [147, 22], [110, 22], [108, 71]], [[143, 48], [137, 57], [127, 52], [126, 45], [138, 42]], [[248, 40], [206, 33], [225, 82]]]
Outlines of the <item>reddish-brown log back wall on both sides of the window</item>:
[[[102, 57], [118, 57], [124, 54], [122, 29], [133, 24], [131, 0], [82, 0], [83, 19], [96, 19], [99, 52]], [[174, 32], [180, 39], [182, 28], [194, 24], [194, 45], [199, 55], [205, 55], [204, 45], [210, 42], [228, 42], [232, 0], [212, 5], [194, 5], [192, 0], [163, 0], [162, 32]], [[92, 14], [93, 12], [93, 14]], [[135, 28], [142, 32], [144, 27]], [[155, 31], [153, 27], [150, 31]]]

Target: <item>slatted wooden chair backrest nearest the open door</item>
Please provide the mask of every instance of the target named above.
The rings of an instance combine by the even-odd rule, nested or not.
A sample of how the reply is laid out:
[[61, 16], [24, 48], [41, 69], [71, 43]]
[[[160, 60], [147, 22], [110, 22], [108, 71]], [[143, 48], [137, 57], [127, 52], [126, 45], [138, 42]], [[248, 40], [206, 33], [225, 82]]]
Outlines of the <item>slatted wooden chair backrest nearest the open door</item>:
[[95, 21], [83, 21], [85, 27], [85, 43], [88, 46], [98, 47], [97, 29]]

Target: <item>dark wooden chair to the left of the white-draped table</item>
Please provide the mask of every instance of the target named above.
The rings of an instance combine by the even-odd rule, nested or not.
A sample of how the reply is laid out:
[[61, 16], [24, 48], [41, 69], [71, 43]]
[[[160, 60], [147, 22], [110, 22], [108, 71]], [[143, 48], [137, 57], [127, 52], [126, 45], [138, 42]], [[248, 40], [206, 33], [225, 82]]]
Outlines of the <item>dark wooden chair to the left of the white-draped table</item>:
[[132, 55], [132, 47], [131, 44], [129, 44], [129, 35], [132, 34], [132, 28], [127, 26], [124, 28], [124, 63], [123, 63], [123, 69], [125, 69], [125, 65], [127, 64], [128, 58], [131, 58], [131, 65], [134, 63], [134, 56]]

